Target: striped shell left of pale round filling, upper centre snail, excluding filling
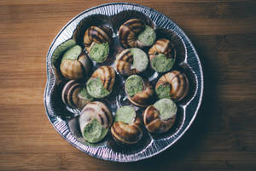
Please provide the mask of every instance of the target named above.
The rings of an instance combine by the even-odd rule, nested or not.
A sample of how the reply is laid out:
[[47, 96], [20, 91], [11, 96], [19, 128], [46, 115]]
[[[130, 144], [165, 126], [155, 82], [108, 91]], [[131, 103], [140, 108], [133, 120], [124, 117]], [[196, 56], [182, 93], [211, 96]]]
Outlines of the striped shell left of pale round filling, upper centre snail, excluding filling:
[[130, 48], [123, 50], [120, 54], [116, 56], [114, 61], [114, 67], [120, 74], [125, 76], [130, 76], [132, 74], [139, 73], [135, 68], [131, 68], [133, 62], [133, 56], [131, 54]]

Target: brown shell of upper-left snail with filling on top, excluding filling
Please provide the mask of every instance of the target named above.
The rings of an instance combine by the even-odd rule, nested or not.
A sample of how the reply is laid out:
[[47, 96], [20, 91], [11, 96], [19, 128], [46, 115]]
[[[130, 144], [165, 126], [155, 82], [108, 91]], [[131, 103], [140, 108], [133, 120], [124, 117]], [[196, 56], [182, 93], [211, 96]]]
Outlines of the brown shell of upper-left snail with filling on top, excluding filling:
[[61, 62], [61, 74], [68, 79], [82, 79], [88, 75], [91, 63], [86, 54], [80, 54], [78, 60]]

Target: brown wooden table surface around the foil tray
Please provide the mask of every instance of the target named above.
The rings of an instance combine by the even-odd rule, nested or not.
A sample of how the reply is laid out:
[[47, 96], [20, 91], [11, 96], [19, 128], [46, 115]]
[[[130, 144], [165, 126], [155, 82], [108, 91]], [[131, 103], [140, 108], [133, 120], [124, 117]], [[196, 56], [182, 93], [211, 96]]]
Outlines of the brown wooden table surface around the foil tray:
[[61, 138], [44, 111], [45, 56], [67, 21], [102, 3], [0, 1], [0, 170], [256, 170], [253, 1], [131, 1], [177, 22], [203, 65], [201, 110], [172, 148], [142, 162], [114, 163]]

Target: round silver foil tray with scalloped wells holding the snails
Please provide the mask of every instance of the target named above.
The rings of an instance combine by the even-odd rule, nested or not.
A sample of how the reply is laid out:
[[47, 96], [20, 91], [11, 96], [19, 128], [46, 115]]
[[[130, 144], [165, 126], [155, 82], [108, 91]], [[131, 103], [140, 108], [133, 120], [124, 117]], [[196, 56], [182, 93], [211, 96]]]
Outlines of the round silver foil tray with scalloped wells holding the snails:
[[[81, 22], [110, 26], [113, 37], [117, 37], [119, 26], [129, 18], [140, 18], [154, 26], [158, 35], [170, 37], [177, 44], [177, 62], [174, 69], [185, 72], [189, 78], [189, 94], [177, 103], [177, 120], [165, 134], [152, 135], [144, 131], [143, 140], [137, 145], [125, 147], [116, 145], [110, 134], [97, 144], [86, 142], [79, 132], [79, 111], [68, 108], [61, 101], [63, 83], [55, 66], [52, 54], [56, 47], [73, 37]], [[164, 32], [163, 32], [164, 31]], [[76, 33], [77, 35], [77, 33]], [[90, 156], [113, 162], [135, 162], [153, 157], [165, 151], [179, 140], [188, 130], [201, 105], [203, 94], [203, 73], [201, 62], [193, 44], [185, 33], [164, 14], [154, 9], [132, 3], [108, 3], [87, 9], [64, 26], [49, 47], [46, 56], [47, 83], [44, 91], [44, 105], [49, 122], [55, 130], [71, 145]], [[154, 73], [155, 74], [155, 73]], [[154, 75], [153, 74], [153, 75]]]

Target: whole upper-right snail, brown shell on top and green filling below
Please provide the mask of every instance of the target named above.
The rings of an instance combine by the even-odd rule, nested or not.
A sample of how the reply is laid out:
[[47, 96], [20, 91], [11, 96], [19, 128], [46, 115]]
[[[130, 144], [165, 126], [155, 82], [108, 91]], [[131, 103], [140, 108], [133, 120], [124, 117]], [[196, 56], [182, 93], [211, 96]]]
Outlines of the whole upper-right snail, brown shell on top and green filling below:
[[154, 71], [166, 72], [172, 69], [176, 60], [176, 49], [174, 44], [166, 38], [157, 40], [154, 45], [149, 48], [148, 56], [150, 66]]

